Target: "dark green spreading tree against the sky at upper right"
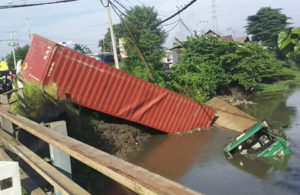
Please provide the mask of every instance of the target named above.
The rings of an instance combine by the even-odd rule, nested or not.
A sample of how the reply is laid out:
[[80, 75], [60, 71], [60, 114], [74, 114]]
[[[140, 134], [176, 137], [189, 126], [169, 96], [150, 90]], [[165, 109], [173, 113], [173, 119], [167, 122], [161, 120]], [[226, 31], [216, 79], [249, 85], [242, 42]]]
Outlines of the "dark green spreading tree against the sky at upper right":
[[287, 29], [288, 19], [281, 9], [263, 7], [255, 15], [248, 16], [246, 32], [252, 35], [253, 41], [261, 41], [264, 46], [276, 50], [278, 34]]

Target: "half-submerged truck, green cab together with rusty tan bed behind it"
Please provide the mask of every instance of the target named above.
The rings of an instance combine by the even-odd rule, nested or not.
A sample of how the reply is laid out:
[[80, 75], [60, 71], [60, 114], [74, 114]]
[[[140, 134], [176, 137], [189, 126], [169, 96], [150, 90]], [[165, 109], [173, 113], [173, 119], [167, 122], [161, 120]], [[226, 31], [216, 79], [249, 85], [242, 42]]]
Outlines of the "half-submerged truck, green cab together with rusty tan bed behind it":
[[279, 130], [272, 129], [267, 121], [258, 121], [218, 97], [212, 98], [206, 105], [216, 110], [216, 126], [241, 132], [224, 148], [226, 157], [279, 158], [291, 154], [283, 126]]

